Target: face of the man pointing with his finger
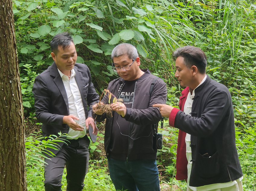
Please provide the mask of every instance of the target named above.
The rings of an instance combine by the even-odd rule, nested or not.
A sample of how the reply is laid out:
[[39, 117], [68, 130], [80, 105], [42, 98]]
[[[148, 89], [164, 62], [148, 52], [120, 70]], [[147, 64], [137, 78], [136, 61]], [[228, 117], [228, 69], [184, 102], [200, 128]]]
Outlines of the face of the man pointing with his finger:
[[180, 82], [181, 86], [186, 87], [190, 86], [193, 83], [193, 69], [188, 69], [184, 64], [184, 58], [179, 56], [175, 61], [175, 77]]

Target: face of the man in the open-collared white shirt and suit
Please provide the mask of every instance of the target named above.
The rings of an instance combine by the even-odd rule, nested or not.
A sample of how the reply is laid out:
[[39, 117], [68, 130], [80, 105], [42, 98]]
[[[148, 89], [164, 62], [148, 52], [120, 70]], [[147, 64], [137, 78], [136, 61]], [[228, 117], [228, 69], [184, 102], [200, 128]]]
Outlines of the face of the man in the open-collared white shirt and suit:
[[51, 53], [51, 55], [58, 69], [62, 73], [70, 71], [74, 68], [77, 59], [77, 54], [73, 42], [70, 43], [69, 48], [65, 48], [64, 50], [62, 47], [58, 46], [57, 55], [53, 52]]

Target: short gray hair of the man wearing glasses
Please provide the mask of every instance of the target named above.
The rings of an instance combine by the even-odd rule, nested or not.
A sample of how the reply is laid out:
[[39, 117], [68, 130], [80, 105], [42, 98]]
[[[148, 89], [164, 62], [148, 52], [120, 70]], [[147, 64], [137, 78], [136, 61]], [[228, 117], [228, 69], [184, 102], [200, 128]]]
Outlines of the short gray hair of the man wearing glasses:
[[119, 57], [127, 55], [130, 59], [131, 58], [137, 58], [139, 56], [137, 49], [135, 46], [129, 44], [129, 43], [122, 43], [117, 45], [111, 54], [111, 59], [113, 60], [114, 57]]

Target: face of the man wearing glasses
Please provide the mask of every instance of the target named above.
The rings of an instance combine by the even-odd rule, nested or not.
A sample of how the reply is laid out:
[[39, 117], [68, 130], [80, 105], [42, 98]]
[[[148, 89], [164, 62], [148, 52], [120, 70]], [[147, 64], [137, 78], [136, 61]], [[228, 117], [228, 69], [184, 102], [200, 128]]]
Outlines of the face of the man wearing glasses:
[[[119, 57], [114, 57], [113, 62], [114, 62], [114, 67], [130, 66], [131, 63], [133, 62], [133, 59], [129, 58], [127, 55], [122, 55]], [[140, 72], [139, 65], [140, 65], [140, 60], [139, 60], [139, 57], [137, 57], [135, 58], [133, 64], [130, 66], [129, 70], [124, 70], [123, 68], [121, 68], [121, 70], [118, 71], [117, 74], [124, 80], [128, 80], [128, 81], [138, 79], [139, 72]]]

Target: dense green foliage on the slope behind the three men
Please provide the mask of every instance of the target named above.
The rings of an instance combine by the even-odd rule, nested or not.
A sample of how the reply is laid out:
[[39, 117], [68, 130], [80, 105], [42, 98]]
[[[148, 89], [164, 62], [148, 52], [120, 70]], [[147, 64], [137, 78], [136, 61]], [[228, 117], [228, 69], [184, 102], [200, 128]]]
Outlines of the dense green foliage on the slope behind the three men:
[[[98, 92], [116, 78], [110, 57], [114, 46], [121, 42], [135, 45], [142, 67], [149, 68], [167, 83], [167, 103], [175, 107], [182, 88], [174, 77], [171, 51], [184, 45], [198, 46], [207, 55], [207, 74], [226, 85], [232, 94], [243, 185], [246, 190], [255, 189], [255, 2], [27, 0], [14, 1], [13, 6], [26, 117], [35, 117], [33, 82], [38, 73], [52, 64], [50, 40], [60, 32], [72, 33], [79, 56], [77, 62], [88, 65]], [[185, 190], [186, 184], [174, 177], [178, 131], [168, 127], [167, 121], [164, 130], [159, 131], [164, 134], [164, 147], [157, 153], [158, 165], [163, 170], [161, 180]], [[91, 154], [100, 152], [98, 144], [90, 145]], [[37, 165], [36, 168], [38, 175], [28, 176], [31, 181], [42, 175], [42, 168]], [[94, 170], [93, 167], [91, 171]], [[103, 171], [101, 168], [100, 172]], [[100, 179], [100, 175], [96, 178]], [[38, 181], [41, 179], [37, 184]]]

